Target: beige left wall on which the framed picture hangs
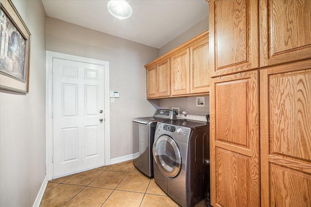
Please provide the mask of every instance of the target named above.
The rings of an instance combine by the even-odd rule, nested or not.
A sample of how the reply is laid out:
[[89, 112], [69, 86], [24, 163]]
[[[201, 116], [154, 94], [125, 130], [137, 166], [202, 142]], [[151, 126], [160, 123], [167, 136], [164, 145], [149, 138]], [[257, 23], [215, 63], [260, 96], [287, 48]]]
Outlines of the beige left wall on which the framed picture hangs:
[[29, 94], [0, 90], [0, 206], [30, 207], [46, 176], [45, 11], [13, 0], [32, 34]]

